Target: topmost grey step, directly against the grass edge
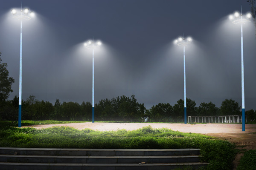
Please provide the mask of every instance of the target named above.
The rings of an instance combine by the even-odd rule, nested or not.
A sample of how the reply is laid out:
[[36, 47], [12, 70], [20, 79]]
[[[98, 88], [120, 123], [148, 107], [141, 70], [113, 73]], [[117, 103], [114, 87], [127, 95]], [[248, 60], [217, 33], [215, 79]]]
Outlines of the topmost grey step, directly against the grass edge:
[[184, 156], [199, 155], [200, 149], [59, 149], [0, 147], [0, 155], [48, 156]]

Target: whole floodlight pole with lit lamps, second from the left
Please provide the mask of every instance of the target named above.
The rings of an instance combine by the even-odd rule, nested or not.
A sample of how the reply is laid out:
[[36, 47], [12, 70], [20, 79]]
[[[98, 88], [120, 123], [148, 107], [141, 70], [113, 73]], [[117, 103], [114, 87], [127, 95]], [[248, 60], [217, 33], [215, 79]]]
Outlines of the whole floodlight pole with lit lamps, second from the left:
[[92, 122], [94, 123], [94, 49], [99, 48], [102, 45], [101, 41], [97, 41], [96, 43], [94, 40], [88, 40], [87, 43], [84, 43], [84, 46], [87, 49], [93, 49], [93, 117]]

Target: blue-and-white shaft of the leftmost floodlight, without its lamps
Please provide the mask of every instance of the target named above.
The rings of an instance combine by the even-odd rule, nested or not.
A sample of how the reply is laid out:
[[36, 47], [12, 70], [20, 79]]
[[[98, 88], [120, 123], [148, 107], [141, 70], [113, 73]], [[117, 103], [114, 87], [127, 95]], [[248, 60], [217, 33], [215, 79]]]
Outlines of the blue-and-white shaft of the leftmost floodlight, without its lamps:
[[[21, 13], [22, 15], [22, 13]], [[21, 127], [21, 89], [22, 89], [22, 20], [20, 20], [20, 77], [19, 77], [19, 115], [18, 127]]]

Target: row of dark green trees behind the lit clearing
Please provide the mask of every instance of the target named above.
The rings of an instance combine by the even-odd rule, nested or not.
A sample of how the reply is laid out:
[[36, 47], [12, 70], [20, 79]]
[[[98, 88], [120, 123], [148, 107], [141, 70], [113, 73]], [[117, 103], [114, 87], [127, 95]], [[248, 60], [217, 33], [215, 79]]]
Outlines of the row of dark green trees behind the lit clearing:
[[[0, 52], [1, 56], [1, 52]], [[11, 87], [15, 80], [9, 77], [7, 64], [1, 63], [0, 58], [0, 120], [17, 120], [19, 99], [15, 96], [8, 100], [9, 93], [13, 92]], [[232, 100], [226, 99], [221, 107], [216, 107], [212, 102], [201, 103], [196, 107], [195, 101], [186, 99], [187, 116], [190, 115], [241, 115], [241, 107]], [[256, 110], [245, 112], [247, 120], [256, 122]], [[56, 99], [54, 105], [49, 101], [39, 101], [34, 95], [30, 95], [26, 101], [22, 100], [23, 120], [64, 120], [64, 121], [91, 121], [92, 104], [90, 102], [61, 102]], [[171, 106], [169, 103], [159, 103], [146, 109], [143, 104], [139, 104], [134, 95], [125, 95], [116, 98], [100, 100], [95, 104], [96, 121], [149, 121], [149, 122], [183, 122], [184, 121], [184, 101], [177, 101]]]

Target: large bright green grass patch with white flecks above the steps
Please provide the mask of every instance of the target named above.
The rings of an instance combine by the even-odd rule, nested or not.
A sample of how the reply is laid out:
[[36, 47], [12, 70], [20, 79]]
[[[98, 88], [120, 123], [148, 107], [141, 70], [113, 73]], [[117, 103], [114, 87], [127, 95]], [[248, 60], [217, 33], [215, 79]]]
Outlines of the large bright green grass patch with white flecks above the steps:
[[181, 133], [151, 126], [138, 130], [96, 131], [72, 127], [51, 127], [36, 130], [17, 128], [8, 122], [0, 127], [0, 147], [95, 148], [95, 149], [201, 149], [207, 170], [229, 170], [236, 150], [229, 141], [207, 135]]

